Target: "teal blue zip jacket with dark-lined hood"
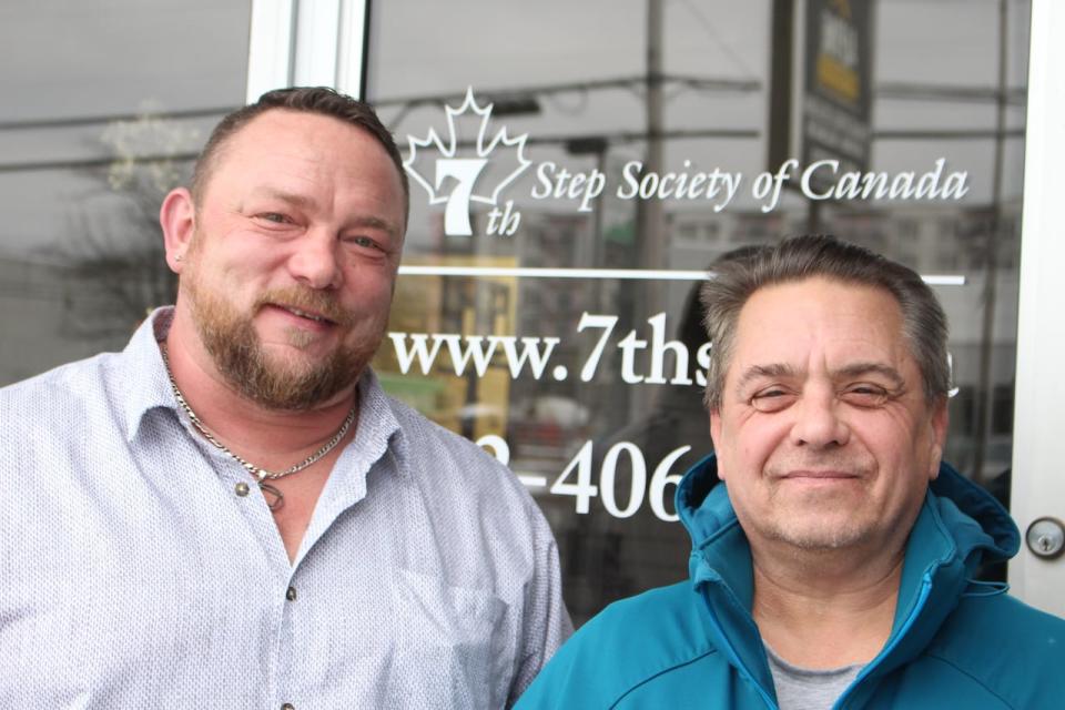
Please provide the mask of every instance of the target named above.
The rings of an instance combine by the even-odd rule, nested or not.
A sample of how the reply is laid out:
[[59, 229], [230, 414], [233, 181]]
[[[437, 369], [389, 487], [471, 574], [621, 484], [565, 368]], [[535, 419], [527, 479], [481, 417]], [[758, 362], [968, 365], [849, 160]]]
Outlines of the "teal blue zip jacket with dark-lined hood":
[[[610, 605], [548, 663], [518, 710], [777, 708], [751, 618], [750, 548], [712, 456], [677, 509], [691, 579]], [[894, 626], [836, 708], [1065, 708], [1065, 620], [973, 582], [1021, 536], [987, 493], [944, 465], [910, 535]]]

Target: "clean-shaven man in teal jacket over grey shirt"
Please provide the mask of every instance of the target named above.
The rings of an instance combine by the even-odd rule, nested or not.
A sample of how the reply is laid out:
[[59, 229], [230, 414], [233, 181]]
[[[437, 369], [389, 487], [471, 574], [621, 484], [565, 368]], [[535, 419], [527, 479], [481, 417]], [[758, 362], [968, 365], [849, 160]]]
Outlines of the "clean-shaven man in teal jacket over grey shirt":
[[519, 710], [1065, 707], [1065, 621], [974, 581], [1020, 534], [941, 463], [946, 318], [920, 276], [807, 236], [702, 297], [691, 579], [608, 607]]

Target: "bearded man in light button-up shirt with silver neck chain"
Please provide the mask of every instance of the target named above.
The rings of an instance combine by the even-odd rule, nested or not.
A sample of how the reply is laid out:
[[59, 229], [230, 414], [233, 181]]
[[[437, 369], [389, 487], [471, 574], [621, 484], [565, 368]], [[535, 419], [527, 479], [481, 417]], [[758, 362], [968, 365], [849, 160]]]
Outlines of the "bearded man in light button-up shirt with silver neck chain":
[[367, 105], [227, 115], [120, 354], [0, 390], [0, 704], [499, 708], [569, 633], [517, 479], [388, 398], [407, 221]]

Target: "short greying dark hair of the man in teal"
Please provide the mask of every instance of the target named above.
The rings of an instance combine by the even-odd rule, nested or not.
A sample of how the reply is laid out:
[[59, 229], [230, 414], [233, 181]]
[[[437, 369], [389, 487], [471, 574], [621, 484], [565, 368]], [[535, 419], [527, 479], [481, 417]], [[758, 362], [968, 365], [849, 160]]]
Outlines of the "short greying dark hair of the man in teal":
[[713, 266], [700, 297], [704, 326], [713, 345], [707, 371], [707, 407], [721, 407], [724, 374], [736, 339], [740, 311], [764, 286], [822, 277], [846, 284], [873, 286], [895, 297], [902, 311], [903, 334], [917, 363], [929, 402], [946, 396], [951, 388], [947, 362], [946, 314], [924, 280], [870, 250], [831, 235], [802, 235], [763, 246]]

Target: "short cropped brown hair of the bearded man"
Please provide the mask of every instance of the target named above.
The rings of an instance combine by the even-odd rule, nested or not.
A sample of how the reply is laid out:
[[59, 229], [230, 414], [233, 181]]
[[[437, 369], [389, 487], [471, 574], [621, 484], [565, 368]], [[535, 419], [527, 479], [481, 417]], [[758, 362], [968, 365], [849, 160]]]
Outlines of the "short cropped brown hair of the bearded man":
[[211, 178], [211, 172], [214, 170], [219, 151], [225, 142], [254, 118], [274, 109], [333, 116], [369, 133], [385, 149], [396, 170], [399, 171], [399, 181], [403, 183], [404, 215], [407, 214], [410, 209], [410, 184], [407, 180], [407, 171], [403, 166], [403, 156], [399, 154], [399, 149], [396, 146], [392, 133], [381, 122], [377, 113], [368, 103], [353, 99], [328, 87], [293, 87], [267, 91], [255, 103], [237, 109], [223, 118], [211, 131], [211, 136], [207, 138], [203, 150], [200, 151], [200, 156], [196, 159], [192, 172], [190, 192], [197, 205], [203, 196], [207, 180]]

